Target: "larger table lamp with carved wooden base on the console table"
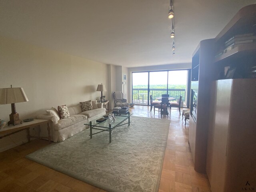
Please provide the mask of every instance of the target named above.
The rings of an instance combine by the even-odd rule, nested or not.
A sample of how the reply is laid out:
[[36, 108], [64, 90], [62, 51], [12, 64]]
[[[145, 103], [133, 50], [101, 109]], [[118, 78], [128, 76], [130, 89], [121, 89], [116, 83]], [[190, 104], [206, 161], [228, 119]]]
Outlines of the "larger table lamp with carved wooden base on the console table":
[[16, 112], [15, 103], [26, 102], [28, 98], [22, 87], [18, 88], [0, 88], [0, 104], [11, 104], [12, 113], [8, 125], [16, 125], [22, 123], [19, 114]]

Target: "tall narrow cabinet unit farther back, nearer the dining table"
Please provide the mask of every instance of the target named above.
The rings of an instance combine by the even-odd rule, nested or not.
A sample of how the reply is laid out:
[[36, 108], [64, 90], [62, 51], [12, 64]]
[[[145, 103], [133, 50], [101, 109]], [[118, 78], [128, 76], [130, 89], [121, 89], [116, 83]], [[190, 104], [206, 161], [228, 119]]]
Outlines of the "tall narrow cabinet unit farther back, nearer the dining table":
[[[207, 134], [209, 120], [210, 87], [213, 79], [212, 65], [214, 39], [202, 40], [192, 58], [192, 82], [190, 99], [189, 144], [197, 172], [206, 172]], [[193, 96], [197, 94], [197, 102]], [[192, 116], [193, 105], [196, 105], [196, 117]]]

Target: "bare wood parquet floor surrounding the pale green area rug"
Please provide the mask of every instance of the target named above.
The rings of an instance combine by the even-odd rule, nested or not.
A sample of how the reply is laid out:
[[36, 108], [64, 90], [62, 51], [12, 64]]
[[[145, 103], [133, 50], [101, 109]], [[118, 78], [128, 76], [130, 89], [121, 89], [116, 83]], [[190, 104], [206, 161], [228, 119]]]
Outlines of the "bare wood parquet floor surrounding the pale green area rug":
[[[161, 118], [158, 112], [154, 116], [149, 110], [148, 106], [130, 108], [134, 116]], [[207, 176], [194, 170], [188, 120], [185, 127], [178, 110], [172, 110], [168, 119], [171, 123], [159, 192], [210, 192]], [[47, 140], [36, 139], [0, 153], [0, 192], [104, 192], [25, 158], [48, 144]]]

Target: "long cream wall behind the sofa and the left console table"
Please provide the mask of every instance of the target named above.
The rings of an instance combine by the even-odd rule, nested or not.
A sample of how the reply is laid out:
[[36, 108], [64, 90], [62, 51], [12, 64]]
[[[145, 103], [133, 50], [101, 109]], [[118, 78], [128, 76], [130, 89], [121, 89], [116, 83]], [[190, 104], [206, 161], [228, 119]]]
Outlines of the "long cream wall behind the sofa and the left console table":
[[[23, 87], [29, 100], [16, 104], [20, 119], [35, 118], [52, 106], [99, 99], [96, 88], [108, 82], [108, 70], [106, 64], [0, 36], [0, 88]], [[9, 121], [10, 113], [10, 104], [0, 105], [0, 119]], [[23, 142], [26, 131], [2, 138], [0, 151]]]

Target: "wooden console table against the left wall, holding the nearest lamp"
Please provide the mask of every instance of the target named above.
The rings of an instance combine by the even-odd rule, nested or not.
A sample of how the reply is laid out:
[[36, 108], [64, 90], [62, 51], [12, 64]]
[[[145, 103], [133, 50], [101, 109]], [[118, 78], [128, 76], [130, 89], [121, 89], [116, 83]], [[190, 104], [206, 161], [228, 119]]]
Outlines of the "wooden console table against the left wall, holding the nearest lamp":
[[[48, 138], [47, 137], [40, 137], [40, 129], [39, 129], [39, 137], [36, 136], [30, 136], [29, 128], [34, 127], [37, 125], [42, 125], [42, 124], [47, 124], [47, 130], [48, 130]], [[15, 126], [9, 125], [9, 126], [4, 126], [2, 129], [0, 129], [0, 135], [6, 134], [4, 136], [0, 136], [0, 139], [10, 136], [14, 133], [20, 132], [22, 130], [27, 131], [27, 138], [28, 142], [30, 142], [30, 138], [46, 138], [51, 142], [51, 135], [50, 135], [50, 120], [44, 120], [44, 119], [34, 119], [33, 121], [30, 122], [22, 122], [22, 124], [18, 124]]]

